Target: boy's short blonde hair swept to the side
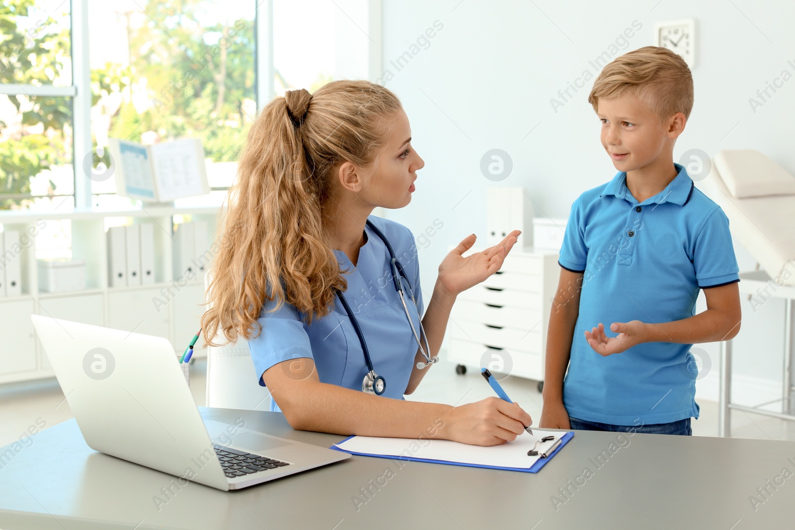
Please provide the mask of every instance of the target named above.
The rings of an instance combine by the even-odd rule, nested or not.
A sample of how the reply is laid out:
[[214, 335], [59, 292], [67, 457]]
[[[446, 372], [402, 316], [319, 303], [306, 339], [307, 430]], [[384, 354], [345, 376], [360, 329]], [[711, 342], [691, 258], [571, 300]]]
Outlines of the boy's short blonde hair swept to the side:
[[624, 92], [641, 99], [660, 120], [677, 112], [689, 118], [693, 107], [690, 68], [677, 53], [659, 46], [638, 48], [607, 64], [594, 81], [588, 103], [596, 111], [599, 99]]

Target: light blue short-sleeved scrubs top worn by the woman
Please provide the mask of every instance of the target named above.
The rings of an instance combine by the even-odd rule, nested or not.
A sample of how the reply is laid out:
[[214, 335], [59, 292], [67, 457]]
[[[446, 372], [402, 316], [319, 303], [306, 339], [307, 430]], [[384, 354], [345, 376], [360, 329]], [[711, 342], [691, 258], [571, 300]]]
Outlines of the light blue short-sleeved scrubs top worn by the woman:
[[[373, 215], [368, 219], [386, 236], [405, 269], [413, 288], [409, 289], [404, 280], [405, 292], [408, 295], [413, 291], [417, 301], [415, 307], [407, 297], [406, 305], [419, 334], [422, 292], [414, 236], [397, 222]], [[334, 251], [340, 269], [349, 271], [343, 296], [359, 322], [375, 372], [386, 379], [383, 396], [403, 399], [417, 354], [417, 341], [394, 288], [389, 250], [370, 226], [365, 227], [365, 233], [367, 240], [359, 250], [356, 266], [342, 250]], [[334, 300], [332, 312], [322, 319], [312, 319], [309, 326], [292, 304], [285, 303], [277, 311], [269, 312], [276, 303], [266, 300], [258, 319], [262, 333], [248, 341], [259, 385], [265, 386], [262, 373], [271, 366], [294, 358], [312, 358], [321, 382], [362, 389], [368, 371], [362, 346], [343, 304], [336, 296]], [[289, 364], [283, 365], [287, 371]], [[270, 408], [279, 410], [275, 400], [271, 400]]]

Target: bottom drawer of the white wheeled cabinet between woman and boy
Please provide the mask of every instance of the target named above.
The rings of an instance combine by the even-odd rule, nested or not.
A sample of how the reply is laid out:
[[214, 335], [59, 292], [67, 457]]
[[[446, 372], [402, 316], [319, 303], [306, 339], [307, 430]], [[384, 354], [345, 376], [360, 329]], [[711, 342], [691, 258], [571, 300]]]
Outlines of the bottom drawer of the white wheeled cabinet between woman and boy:
[[[491, 372], [537, 381], [544, 377], [544, 356], [530, 351], [494, 349], [479, 342], [452, 339], [448, 346], [448, 359], [465, 366], [488, 368]], [[522, 402], [521, 399], [518, 401]]]

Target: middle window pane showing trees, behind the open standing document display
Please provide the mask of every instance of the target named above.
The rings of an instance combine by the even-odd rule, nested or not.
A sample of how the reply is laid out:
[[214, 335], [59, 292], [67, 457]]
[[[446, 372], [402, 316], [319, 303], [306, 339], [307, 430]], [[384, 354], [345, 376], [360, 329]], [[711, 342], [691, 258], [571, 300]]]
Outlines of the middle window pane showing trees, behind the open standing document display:
[[[251, 0], [91, 0], [91, 141], [151, 145], [198, 137], [213, 188], [231, 184], [256, 116]], [[98, 149], [98, 153], [102, 150]], [[91, 181], [93, 203], [130, 205], [113, 179]], [[223, 195], [223, 192], [221, 193]]]

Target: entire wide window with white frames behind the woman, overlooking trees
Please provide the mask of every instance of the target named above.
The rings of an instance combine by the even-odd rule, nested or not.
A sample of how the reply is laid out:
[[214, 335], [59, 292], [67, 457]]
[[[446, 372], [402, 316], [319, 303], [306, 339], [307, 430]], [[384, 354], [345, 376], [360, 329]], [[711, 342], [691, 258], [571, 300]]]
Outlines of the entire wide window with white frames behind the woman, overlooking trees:
[[136, 207], [111, 137], [199, 137], [220, 203], [258, 102], [368, 77], [378, 3], [0, 0], [0, 209]]

